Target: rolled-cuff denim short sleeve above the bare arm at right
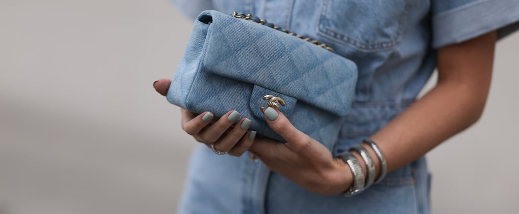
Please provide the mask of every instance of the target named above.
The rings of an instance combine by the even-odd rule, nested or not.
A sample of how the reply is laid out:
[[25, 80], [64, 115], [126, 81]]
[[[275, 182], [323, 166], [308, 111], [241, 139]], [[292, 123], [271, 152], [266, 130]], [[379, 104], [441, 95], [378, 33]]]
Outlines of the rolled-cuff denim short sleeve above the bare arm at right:
[[440, 48], [497, 30], [519, 29], [519, 0], [431, 0], [432, 46]]

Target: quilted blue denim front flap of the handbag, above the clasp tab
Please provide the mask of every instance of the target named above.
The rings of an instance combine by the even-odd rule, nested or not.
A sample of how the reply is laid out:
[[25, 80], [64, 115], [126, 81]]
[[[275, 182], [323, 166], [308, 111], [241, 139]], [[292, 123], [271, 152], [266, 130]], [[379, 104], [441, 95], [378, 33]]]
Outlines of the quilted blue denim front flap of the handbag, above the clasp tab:
[[[357, 81], [357, 66], [303, 39], [217, 11], [202, 12], [209, 24], [203, 66], [345, 116]], [[208, 21], [210, 20], [210, 21]]]

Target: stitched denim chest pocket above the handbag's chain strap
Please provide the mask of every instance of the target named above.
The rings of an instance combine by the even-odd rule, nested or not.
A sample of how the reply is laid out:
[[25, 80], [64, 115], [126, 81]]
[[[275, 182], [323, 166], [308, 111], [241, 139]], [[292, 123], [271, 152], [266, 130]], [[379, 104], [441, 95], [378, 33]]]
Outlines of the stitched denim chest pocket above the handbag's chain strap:
[[408, 0], [323, 0], [318, 34], [364, 51], [394, 47], [400, 42]]

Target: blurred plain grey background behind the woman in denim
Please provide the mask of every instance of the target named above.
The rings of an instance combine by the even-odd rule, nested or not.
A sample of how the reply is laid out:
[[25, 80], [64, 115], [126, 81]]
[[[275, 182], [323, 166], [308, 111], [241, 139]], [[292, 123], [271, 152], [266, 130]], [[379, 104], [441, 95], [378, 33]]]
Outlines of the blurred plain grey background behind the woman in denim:
[[[167, 0], [0, 0], [0, 213], [173, 213], [195, 141], [152, 82], [191, 28]], [[483, 117], [429, 153], [433, 213], [517, 213], [518, 48], [498, 43]]]

